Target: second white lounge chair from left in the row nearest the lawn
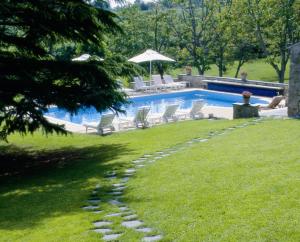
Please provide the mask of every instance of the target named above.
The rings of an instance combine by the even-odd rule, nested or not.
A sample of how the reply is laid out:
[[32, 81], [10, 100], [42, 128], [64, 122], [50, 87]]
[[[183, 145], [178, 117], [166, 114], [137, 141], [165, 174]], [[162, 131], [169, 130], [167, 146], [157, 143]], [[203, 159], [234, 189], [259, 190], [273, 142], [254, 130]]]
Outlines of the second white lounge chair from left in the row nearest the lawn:
[[149, 114], [150, 107], [140, 107], [136, 112], [135, 116], [132, 118], [123, 118], [119, 120], [119, 129], [137, 127], [137, 128], [146, 128], [149, 126], [147, 121], [147, 116]]

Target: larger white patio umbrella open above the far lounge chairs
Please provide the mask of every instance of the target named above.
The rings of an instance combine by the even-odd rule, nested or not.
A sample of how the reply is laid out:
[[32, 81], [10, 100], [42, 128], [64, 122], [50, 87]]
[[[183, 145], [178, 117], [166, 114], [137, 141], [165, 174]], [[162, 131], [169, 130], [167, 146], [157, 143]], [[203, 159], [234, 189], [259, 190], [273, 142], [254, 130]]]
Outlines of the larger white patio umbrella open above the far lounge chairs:
[[150, 79], [152, 74], [152, 61], [170, 61], [174, 62], [175, 60], [164, 56], [154, 50], [146, 50], [144, 53], [134, 56], [130, 58], [128, 61], [134, 62], [134, 63], [142, 63], [142, 62], [150, 62]]

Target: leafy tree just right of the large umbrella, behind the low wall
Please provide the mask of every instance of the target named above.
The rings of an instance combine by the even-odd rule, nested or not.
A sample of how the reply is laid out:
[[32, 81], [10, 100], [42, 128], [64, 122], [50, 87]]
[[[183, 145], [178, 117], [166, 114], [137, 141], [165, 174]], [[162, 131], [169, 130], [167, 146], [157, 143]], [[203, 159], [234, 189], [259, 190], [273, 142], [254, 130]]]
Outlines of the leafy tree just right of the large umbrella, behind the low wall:
[[214, 15], [214, 0], [176, 0], [169, 23], [178, 38], [182, 58], [195, 66], [200, 75], [209, 69], [210, 31]]

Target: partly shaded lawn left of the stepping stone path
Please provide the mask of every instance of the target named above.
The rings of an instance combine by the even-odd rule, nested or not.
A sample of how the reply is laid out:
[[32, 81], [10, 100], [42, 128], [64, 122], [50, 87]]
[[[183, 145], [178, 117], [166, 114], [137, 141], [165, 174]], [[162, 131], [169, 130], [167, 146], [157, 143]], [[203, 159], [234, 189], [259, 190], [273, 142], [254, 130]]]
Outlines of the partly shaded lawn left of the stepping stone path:
[[[2, 165], [13, 154], [25, 161], [42, 160], [45, 168], [14, 178], [0, 177], [0, 241], [99, 241], [101, 236], [88, 230], [101, 215], [80, 207], [97, 183], [103, 186], [99, 196], [105, 201], [110, 185], [103, 179], [106, 171], [123, 170], [144, 153], [239, 122], [188, 121], [108, 137], [11, 136], [9, 145], [0, 144]], [[56, 165], [48, 167], [53, 161]], [[111, 209], [105, 202], [102, 208]], [[141, 235], [127, 236], [136, 241]]]

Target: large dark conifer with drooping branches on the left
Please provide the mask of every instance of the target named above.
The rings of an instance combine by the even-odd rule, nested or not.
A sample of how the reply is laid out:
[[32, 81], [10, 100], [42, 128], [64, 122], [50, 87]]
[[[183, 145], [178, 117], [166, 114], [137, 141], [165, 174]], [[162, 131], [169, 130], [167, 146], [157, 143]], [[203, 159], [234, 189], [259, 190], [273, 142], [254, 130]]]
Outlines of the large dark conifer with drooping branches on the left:
[[65, 133], [43, 116], [50, 105], [71, 113], [81, 107], [121, 111], [110, 62], [71, 62], [50, 53], [49, 42], [71, 41], [103, 48], [107, 33], [120, 28], [116, 15], [84, 0], [0, 2], [0, 138], [13, 132]]

